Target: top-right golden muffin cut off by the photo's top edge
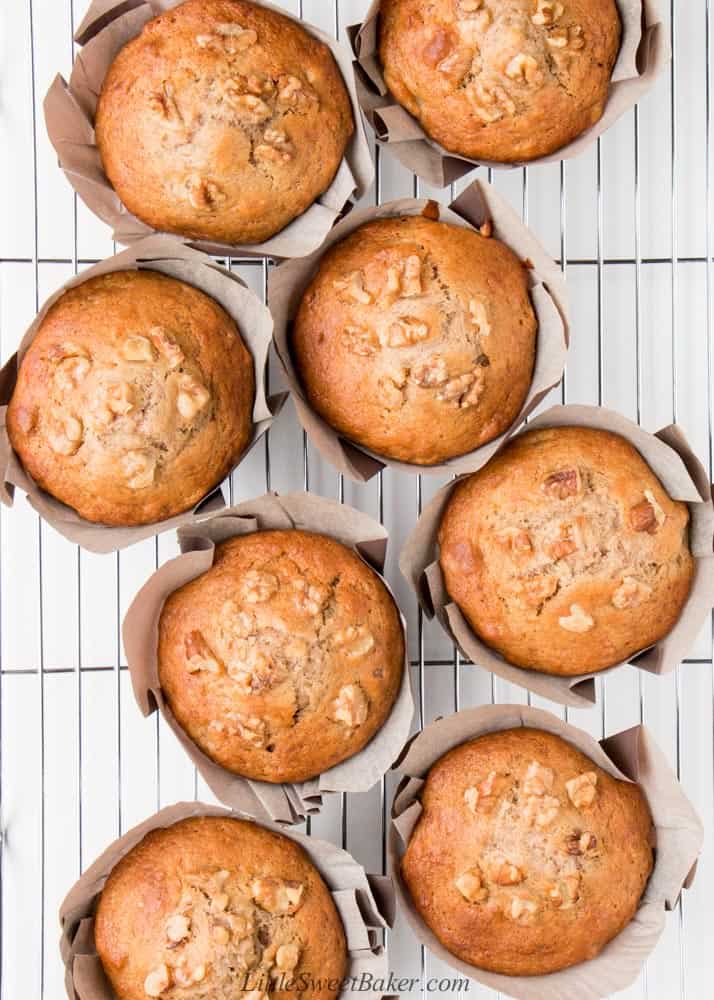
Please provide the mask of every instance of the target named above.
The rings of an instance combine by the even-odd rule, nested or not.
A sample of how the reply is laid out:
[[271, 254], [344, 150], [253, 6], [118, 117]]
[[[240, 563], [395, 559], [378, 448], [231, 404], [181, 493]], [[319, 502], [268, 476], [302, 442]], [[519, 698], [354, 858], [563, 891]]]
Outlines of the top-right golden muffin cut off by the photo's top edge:
[[620, 48], [615, 0], [382, 0], [392, 94], [450, 153], [533, 160], [602, 117]]

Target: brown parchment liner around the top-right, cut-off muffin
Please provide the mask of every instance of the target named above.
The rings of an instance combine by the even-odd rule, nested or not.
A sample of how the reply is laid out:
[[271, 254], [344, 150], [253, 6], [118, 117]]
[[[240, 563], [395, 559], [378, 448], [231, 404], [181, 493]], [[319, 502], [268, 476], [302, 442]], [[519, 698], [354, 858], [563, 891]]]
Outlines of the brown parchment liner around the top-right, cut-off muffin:
[[499, 163], [470, 160], [448, 153], [424, 132], [406, 108], [389, 92], [379, 59], [380, 0], [373, 0], [361, 25], [348, 28], [355, 53], [357, 93], [365, 117], [375, 131], [380, 145], [409, 170], [435, 187], [453, 184], [474, 167], [513, 169], [538, 163], [557, 163], [578, 156], [629, 111], [647, 93], [662, 68], [669, 62], [671, 50], [657, 0], [615, 0], [622, 19], [622, 43], [613, 69], [605, 110], [599, 122], [549, 156], [527, 163]]

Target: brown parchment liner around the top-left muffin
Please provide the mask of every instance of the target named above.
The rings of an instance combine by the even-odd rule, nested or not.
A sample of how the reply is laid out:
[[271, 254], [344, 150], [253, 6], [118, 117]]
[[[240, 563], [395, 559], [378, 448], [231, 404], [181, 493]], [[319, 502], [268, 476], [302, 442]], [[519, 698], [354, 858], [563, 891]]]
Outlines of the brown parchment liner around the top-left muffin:
[[[136, 37], [152, 17], [176, 7], [181, 0], [94, 0], [75, 34], [82, 46], [69, 84], [57, 75], [44, 100], [50, 141], [65, 175], [95, 215], [113, 230], [117, 242], [130, 245], [155, 230], [123, 205], [104, 173], [94, 136], [94, 114], [107, 70], [119, 50]], [[219, 256], [300, 257], [318, 247], [352, 195], [361, 197], [372, 183], [374, 165], [362, 121], [350, 51], [330, 35], [265, 0], [252, 0], [297, 21], [324, 42], [340, 68], [350, 95], [355, 131], [329, 188], [297, 219], [264, 243], [214, 243], [190, 240], [192, 246]], [[181, 237], [175, 237], [181, 239]]]

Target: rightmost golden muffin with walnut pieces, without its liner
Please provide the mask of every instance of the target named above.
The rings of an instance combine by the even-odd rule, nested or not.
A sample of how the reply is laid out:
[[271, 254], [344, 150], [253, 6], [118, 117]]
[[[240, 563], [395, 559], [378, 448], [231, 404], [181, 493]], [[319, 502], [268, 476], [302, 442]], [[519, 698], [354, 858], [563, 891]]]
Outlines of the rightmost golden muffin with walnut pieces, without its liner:
[[441, 568], [471, 627], [510, 663], [590, 673], [672, 629], [694, 574], [688, 523], [624, 438], [529, 431], [454, 490]]

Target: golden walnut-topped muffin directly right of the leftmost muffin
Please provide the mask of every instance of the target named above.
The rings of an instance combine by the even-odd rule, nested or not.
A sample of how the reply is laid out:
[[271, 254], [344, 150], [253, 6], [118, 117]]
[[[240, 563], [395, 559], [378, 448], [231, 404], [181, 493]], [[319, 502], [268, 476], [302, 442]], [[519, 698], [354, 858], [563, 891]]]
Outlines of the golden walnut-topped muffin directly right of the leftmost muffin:
[[323, 257], [292, 351], [313, 408], [386, 458], [434, 465], [497, 437], [533, 374], [526, 271], [503, 243], [379, 219]]

